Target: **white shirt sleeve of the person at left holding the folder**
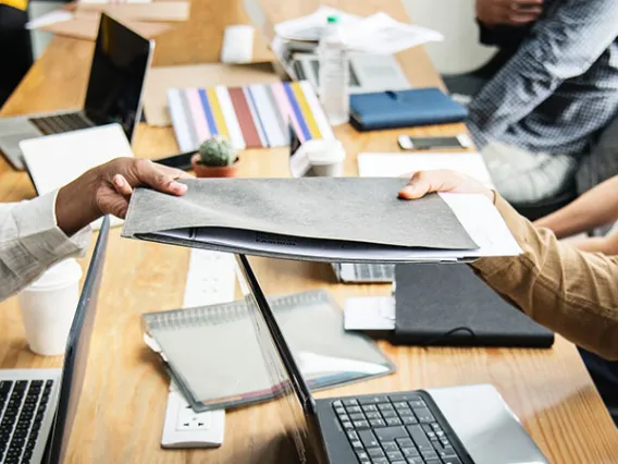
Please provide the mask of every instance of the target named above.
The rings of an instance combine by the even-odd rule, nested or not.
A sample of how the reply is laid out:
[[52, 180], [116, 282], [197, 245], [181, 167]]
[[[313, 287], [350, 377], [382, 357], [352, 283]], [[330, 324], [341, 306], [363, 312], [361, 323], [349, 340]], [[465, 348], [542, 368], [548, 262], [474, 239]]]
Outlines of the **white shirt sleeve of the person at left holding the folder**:
[[54, 191], [32, 200], [0, 204], [0, 301], [55, 262], [88, 249], [90, 227], [71, 237], [58, 227], [57, 195]]

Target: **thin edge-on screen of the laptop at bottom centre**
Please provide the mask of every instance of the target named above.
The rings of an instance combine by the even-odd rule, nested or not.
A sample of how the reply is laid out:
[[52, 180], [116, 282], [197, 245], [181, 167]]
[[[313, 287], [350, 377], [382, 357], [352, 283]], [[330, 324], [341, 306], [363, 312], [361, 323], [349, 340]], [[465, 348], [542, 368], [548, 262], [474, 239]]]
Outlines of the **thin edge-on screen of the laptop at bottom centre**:
[[[255, 333], [262, 352], [271, 388], [277, 393], [275, 402], [284, 431], [296, 450], [300, 463], [325, 463], [314, 403], [310, 390], [300, 374], [270, 305], [244, 255], [236, 256], [238, 282], [249, 308]], [[292, 462], [279, 456], [281, 462]], [[287, 456], [286, 456], [287, 457]]]

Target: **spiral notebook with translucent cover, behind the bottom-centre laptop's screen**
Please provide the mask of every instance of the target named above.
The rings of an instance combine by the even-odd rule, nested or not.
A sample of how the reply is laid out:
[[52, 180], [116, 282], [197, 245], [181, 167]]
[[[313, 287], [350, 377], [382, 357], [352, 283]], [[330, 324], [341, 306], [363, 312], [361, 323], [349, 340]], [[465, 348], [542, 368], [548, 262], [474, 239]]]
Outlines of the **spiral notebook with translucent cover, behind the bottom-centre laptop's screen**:
[[[343, 312], [326, 291], [269, 300], [312, 390], [395, 370], [369, 338], [344, 330]], [[191, 407], [201, 412], [276, 396], [254, 316], [244, 301], [237, 301], [145, 314], [143, 329]]]

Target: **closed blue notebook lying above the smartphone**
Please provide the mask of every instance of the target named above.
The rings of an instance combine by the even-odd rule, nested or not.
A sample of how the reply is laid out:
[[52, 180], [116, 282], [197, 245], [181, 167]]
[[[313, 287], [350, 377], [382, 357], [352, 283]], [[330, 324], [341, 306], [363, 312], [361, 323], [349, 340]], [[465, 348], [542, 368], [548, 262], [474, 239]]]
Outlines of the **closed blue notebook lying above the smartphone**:
[[358, 94], [350, 97], [350, 124], [358, 131], [460, 122], [468, 110], [438, 88]]

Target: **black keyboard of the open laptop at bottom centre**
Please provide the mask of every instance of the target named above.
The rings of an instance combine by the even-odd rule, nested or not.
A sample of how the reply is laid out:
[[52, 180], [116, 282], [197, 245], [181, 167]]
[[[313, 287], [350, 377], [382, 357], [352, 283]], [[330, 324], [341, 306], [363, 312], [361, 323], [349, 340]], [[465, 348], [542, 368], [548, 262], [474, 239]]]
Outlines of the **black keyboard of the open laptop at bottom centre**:
[[346, 398], [333, 408], [360, 464], [462, 464], [419, 394]]

